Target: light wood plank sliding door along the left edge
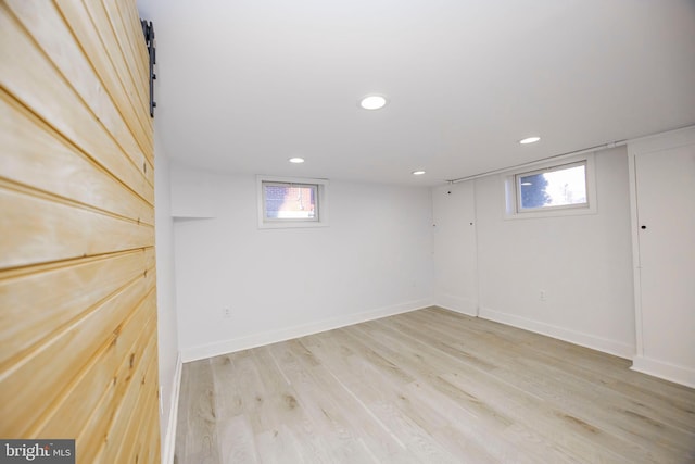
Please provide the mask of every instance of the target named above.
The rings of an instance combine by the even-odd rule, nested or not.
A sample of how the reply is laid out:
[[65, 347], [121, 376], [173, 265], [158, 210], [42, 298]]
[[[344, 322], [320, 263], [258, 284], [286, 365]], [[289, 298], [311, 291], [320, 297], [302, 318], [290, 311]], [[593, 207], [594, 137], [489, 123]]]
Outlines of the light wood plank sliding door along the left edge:
[[154, 150], [135, 0], [0, 0], [0, 437], [160, 462]]

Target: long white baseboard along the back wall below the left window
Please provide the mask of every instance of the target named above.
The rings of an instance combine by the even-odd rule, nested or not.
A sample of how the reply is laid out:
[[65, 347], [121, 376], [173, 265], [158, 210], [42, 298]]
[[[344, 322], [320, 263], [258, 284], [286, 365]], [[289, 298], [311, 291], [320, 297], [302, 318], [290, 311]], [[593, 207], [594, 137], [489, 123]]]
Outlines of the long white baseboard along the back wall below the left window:
[[184, 358], [184, 362], [188, 363], [190, 361], [203, 360], [220, 354], [232, 353], [235, 351], [247, 350], [249, 348], [255, 348], [264, 344], [276, 343], [278, 341], [304, 337], [306, 335], [317, 334], [319, 331], [332, 330], [334, 328], [345, 327], [353, 324], [359, 324], [367, 321], [392, 316], [395, 314], [407, 313], [430, 305], [432, 305], [432, 301], [429, 299], [409, 301], [393, 306], [380, 308], [378, 310], [365, 311], [362, 313], [348, 314], [344, 316], [332, 317], [316, 323], [302, 324], [299, 326], [287, 327], [279, 330], [271, 330], [262, 334], [250, 335], [247, 337], [232, 338], [229, 340], [216, 341], [214, 343], [190, 347], [184, 349], [181, 351], [181, 354]]

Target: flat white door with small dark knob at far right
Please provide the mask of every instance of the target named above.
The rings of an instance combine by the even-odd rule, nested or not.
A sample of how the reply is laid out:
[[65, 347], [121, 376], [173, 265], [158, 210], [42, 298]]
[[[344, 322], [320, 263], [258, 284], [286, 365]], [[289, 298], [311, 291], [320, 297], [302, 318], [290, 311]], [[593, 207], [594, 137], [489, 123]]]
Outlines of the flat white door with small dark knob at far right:
[[635, 174], [643, 355], [695, 369], [695, 145], [639, 154]]

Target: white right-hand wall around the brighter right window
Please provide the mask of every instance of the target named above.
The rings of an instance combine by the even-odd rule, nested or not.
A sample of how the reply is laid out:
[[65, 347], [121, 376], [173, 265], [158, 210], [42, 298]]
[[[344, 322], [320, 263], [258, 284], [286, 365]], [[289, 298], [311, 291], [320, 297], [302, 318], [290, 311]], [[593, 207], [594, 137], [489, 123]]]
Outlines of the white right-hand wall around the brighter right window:
[[[475, 180], [480, 316], [578, 344], [634, 354], [632, 250], [627, 151], [596, 155], [597, 213], [547, 218], [504, 218], [504, 176]], [[438, 216], [470, 215], [472, 192], [445, 204], [433, 191]], [[456, 213], [454, 213], [454, 211]], [[458, 234], [435, 234], [434, 249], [471, 255]], [[437, 256], [437, 253], [435, 253]], [[447, 266], [457, 258], [451, 256]], [[446, 261], [446, 260], [444, 260]], [[453, 262], [452, 262], [453, 261]], [[442, 260], [435, 258], [438, 266]], [[443, 288], [476, 301], [475, 274], [460, 273], [454, 287], [438, 271], [435, 301]], [[546, 301], [540, 300], [545, 290]]]

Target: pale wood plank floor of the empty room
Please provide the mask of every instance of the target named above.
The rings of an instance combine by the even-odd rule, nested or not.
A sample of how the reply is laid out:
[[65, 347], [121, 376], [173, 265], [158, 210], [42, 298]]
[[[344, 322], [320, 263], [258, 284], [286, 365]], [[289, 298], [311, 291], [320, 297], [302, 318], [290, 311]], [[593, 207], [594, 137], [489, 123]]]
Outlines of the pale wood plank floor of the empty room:
[[695, 390], [430, 308], [184, 365], [182, 463], [695, 462]]

